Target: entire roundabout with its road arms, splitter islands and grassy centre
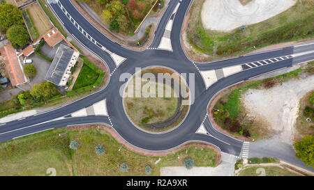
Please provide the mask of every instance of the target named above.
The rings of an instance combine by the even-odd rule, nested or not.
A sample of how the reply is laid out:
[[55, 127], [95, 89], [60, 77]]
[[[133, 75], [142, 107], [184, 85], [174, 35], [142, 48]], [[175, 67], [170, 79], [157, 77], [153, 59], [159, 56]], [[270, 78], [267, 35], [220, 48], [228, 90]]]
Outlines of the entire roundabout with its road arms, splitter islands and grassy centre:
[[[191, 0], [170, 1], [156, 26], [149, 47], [143, 51], [136, 51], [107, 38], [81, 15], [70, 0], [47, 1], [71, 37], [107, 65], [110, 70], [107, 77], [110, 77], [110, 80], [107, 86], [96, 93], [73, 103], [23, 120], [0, 124], [0, 141], [9, 141], [17, 136], [47, 129], [98, 123], [109, 125], [126, 143], [142, 150], [162, 152], [177, 148], [184, 143], [202, 142], [216, 146], [221, 152], [241, 157], [244, 142], [218, 132], [207, 116], [207, 105], [221, 90], [229, 86], [267, 72], [290, 67], [292, 64], [308, 61], [314, 56], [313, 53], [304, 54], [299, 59], [286, 58], [272, 64], [251, 66], [249, 69], [243, 69], [241, 65], [266, 58], [292, 55], [294, 52], [306, 52], [313, 47], [310, 45], [299, 48], [287, 47], [211, 63], [194, 63], [181, 47], [182, 24], [191, 2]], [[73, 19], [69, 19], [69, 15], [75, 18], [74, 23]], [[171, 41], [168, 45], [171, 46], [172, 51], [158, 49], [163, 42], [162, 39], [166, 38]], [[234, 66], [240, 70], [230, 72]], [[142, 70], [139, 71], [137, 68]], [[140, 78], [138, 85], [140, 90], [136, 88], [126, 90], [129, 84], [135, 84], [137, 74]], [[144, 76], [145, 74], [147, 76]], [[179, 78], [167, 84], [165, 80], [158, 82], [158, 74], [170, 76], [174, 74]], [[132, 83], [130, 81], [133, 78], [135, 81]], [[155, 81], [152, 80], [153, 78]], [[186, 90], [187, 96], [176, 90], [175, 84], [182, 84], [181, 81], [184, 81], [185, 86], [180, 86], [182, 88], [179, 89]], [[154, 86], [163, 86], [161, 92], [164, 95], [170, 92], [170, 96], [154, 97], [152, 94], [158, 95], [156, 90], [158, 88], [154, 90]], [[133, 92], [133, 95], [140, 92], [140, 97], [126, 96], [130, 92]], [[144, 97], [142, 97], [143, 93]], [[107, 108], [107, 116], [96, 114], [72, 116], [72, 113], [88, 109], [101, 101], [106, 102], [103, 106]], [[202, 130], [199, 130], [200, 128]]]

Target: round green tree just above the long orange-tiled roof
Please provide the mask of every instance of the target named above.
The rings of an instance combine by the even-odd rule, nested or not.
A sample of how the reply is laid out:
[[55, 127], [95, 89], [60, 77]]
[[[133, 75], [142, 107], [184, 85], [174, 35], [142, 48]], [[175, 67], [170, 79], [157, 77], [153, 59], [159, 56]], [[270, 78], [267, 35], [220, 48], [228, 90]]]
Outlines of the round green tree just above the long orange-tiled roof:
[[13, 45], [24, 46], [29, 42], [29, 32], [23, 25], [13, 25], [6, 32], [6, 37]]

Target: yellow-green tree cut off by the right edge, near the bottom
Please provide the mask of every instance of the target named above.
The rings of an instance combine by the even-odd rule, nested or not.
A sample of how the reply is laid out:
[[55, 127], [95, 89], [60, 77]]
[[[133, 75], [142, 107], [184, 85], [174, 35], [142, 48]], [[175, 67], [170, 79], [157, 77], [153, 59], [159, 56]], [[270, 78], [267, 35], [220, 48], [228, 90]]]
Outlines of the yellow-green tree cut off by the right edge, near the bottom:
[[314, 136], [306, 135], [302, 141], [294, 143], [295, 157], [304, 161], [306, 166], [314, 167]]

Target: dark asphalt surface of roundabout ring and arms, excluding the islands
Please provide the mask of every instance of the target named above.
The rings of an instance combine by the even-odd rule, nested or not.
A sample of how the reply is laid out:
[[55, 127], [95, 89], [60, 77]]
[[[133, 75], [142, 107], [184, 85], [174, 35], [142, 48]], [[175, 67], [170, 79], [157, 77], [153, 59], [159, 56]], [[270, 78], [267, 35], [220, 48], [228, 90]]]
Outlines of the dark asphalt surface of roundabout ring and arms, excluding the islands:
[[[171, 43], [173, 52], [159, 50], [159, 49], [146, 49], [141, 52], [133, 51], [121, 45], [117, 42], [113, 42], [107, 38], [103, 33], [100, 33], [87, 19], [85, 19], [70, 3], [69, 0], [63, 0], [57, 4], [56, 1], [50, 0], [50, 8], [59, 17], [59, 20], [63, 23], [63, 26], [69, 33], [76, 38], [84, 47], [94, 52], [96, 56], [102, 59], [110, 70], [110, 82], [105, 88], [84, 97], [76, 102], [62, 106], [59, 109], [42, 113], [40, 115], [29, 116], [22, 120], [14, 120], [5, 124], [0, 124], [0, 141], [8, 141], [18, 136], [24, 136], [35, 132], [40, 132], [45, 129], [52, 129], [57, 127], [66, 127], [68, 125], [87, 124], [87, 123], [106, 123], [111, 125], [113, 129], [122, 137], [125, 141], [137, 148], [142, 148], [151, 151], [163, 151], [175, 148], [187, 141], [202, 141], [204, 143], [211, 143], [220, 148], [221, 151], [240, 157], [243, 141], [236, 140], [230, 136], [222, 134], [214, 127], [207, 115], [207, 104], [216, 93], [220, 90], [227, 88], [240, 81], [245, 81], [251, 77], [258, 76], [267, 72], [278, 70], [285, 67], [290, 67], [294, 64], [302, 63], [314, 59], [313, 53], [306, 53], [294, 58], [278, 61], [273, 64], [262, 65], [260, 67], [251, 68], [249, 70], [243, 70], [237, 74], [232, 74], [229, 77], [219, 79], [206, 88], [202, 75], [199, 70], [217, 70], [220, 68], [229, 67], [232, 65], [241, 65], [244, 63], [251, 63], [254, 61], [260, 61], [262, 59], [274, 58], [278, 56], [286, 56], [291, 54], [299, 54], [304, 52], [311, 52], [314, 50], [314, 45], [305, 45], [301, 47], [287, 47], [283, 49], [276, 49], [270, 52], [263, 52], [260, 54], [251, 54], [247, 56], [239, 56], [236, 58], [230, 58], [221, 61], [214, 61], [211, 63], [195, 63], [197, 67], [190, 61], [184, 50], [181, 47], [180, 33], [181, 27], [184, 22], [186, 11], [190, 6], [191, 0], [184, 0], [179, 5], [176, 13], [173, 14], [179, 0], [172, 0], [167, 6], [163, 17], [158, 22], [158, 27], [154, 34], [154, 40], [149, 47], [156, 48], [160, 44], [160, 40], [163, 37], [165, 26], [167, 25], [170, 17], [174, 18], [171, 31]], [[61, 8], [62, 7], [62, 8]], [[66, 11], [65, 11], [66, 10]], [[68, 14], [68, 15], [67, 15]], [[70, 17], [75, 19], [73, 21]], [[78, 27], [76, 24], [79, 24]], [[88, 33], [90, 37], [87, 37], [86, 33], [82, 33], [82, 29]], [[90, 40], [89, 38], [93, 38]], [[119, 67], [114, 63], [114, 60], [110, 56], [110, 53], [104, 51], [100, 46], [105, 47], [110, 52], [123, 56], [126, 61], [121, 63]], [[151, 65], [161, 65], [168, 68], [172, 68], [179, 73], [194, 73], [195, 74], [195, 94], [193, 95], [194, 103], [190, 106], [190, 111], [184, 122], [179, 127], [164, 134], [149, 134], [143, 132], [137, 127], [133, 126], [124, 113], [122, 98], [119, 95], [120, 87], [124, 84], [124, 81], [120, 81], [119, 77], [122, 73], [128, 72], [130, 74], [135, 73], [135, 68], [146, 68]], [[199, 68], [199, 70], [197, 70]], [[186, 79], [189, 83], [189, 79]], [[68, 116], [70, 113], [78, 111], [80, 109], [91, 106], [92, 104], [106, 99], [107, 111], [109, 117], [105, 116], [87, 116], [87, 117], [67, 117], [61, 120], [55, 120], [63, 116]], [[196, 134], [195, 132], [204, 122], [204, 126], [207, 129], [208, 135]], [[267, 150], [263, 150], [264, 155], [267, 156]], [[281, 158], [284, 159], [284, 158]], [[295, 158], [294, 158], [295, 159]], [[290, 159], [289, 159], [290, 160]], [[291, 161], [291, 160], [290, 160]], [[293, 160], [292, 160], [293, 162]], [[301, 166], [299, 161], [295, 162], [298, 166]], [[305, 167], [305, 166], [303, 166]]]

